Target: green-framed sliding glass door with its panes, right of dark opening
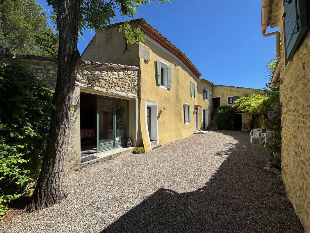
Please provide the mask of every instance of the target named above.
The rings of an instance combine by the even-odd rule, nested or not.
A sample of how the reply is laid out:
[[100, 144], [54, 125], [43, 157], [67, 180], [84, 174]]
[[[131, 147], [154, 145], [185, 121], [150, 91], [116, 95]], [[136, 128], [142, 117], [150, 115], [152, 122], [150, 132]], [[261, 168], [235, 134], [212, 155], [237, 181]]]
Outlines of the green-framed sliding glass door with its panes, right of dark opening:
[[97, 152], [126, 144], [128, 101], [97, 96]]

